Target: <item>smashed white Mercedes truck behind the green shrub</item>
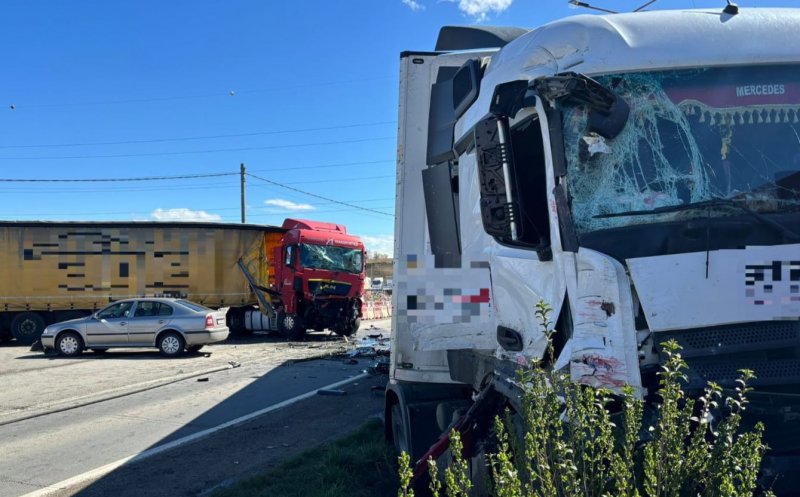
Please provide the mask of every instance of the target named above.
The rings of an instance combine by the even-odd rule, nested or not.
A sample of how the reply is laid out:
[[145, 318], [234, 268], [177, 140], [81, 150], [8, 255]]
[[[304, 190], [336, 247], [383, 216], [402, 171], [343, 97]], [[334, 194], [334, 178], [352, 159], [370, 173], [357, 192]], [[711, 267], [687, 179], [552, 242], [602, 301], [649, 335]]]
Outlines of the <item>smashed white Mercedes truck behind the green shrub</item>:
[[647, 398], [668, 339], [689, 389], [752, 369], [770, 457], [798, 464], [800, 10], [732, 7], [401, 54], [385, 419], [412, 460], [513, 396], [543, 300], [576, 382]]

